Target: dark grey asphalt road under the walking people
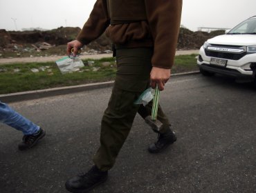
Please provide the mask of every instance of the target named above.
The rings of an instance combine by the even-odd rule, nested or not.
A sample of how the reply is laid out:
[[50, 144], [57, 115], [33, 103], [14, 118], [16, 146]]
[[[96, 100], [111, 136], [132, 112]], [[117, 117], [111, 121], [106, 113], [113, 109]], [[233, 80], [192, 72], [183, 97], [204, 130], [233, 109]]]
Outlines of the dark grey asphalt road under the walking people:
[[[93, 164], [111, 88], [9, 103], [46, 129], [19, 152], [22, 134], [1, 124], [0, 192], [66, 192], [66, 179]], [[91, 192], [256, 192], [256, 90], [200, 74], [172, 77], [161, 103], [178, 140], [161, 154], [156, 134], [136, 116], [109, 179]]]

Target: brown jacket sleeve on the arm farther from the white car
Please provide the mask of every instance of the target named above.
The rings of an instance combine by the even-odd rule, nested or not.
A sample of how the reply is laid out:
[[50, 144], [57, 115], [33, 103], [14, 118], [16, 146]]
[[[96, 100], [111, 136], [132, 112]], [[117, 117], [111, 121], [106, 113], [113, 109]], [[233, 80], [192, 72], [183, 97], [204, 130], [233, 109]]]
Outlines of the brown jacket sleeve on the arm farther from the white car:
[[76, 39], [86, 45], [100, 37], [107, 26], [109, 26], [107, 1], [97, 0], [93, 6], [89, 19], [84, 23], [84, 27], [77, 35]]

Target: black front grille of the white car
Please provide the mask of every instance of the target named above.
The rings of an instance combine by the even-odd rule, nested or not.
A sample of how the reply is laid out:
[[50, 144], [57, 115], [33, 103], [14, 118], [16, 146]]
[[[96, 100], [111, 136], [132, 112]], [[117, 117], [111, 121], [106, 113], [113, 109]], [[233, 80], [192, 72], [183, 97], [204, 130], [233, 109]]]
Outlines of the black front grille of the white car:
[[[211, 46], [214, 46], [214, 47], [217, 47], [217, 48], [241, 48], [241, 46], [239, 46], [239, 45], [230, 46], [230, 45], [211, 44]], [[212, 51], [212, 50], [205, 49], [205, 54], [208, 57], [239, 60], [242, 57], [244, 57], [247, 53], [246, 52], [241, 52], [241, 53], [221, 52], [221, 51]]]

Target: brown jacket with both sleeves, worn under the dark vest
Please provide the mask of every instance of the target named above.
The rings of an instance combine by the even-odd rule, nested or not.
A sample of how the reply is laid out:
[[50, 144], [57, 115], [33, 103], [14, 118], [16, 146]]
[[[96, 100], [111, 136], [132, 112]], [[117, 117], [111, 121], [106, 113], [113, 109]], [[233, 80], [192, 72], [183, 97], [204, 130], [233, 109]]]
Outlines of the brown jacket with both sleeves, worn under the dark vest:
[[172, 68], [181, 23], [182, 0], [144, 1], [147, 21], [109, 25], [107, 0], [97, 0], [77, 40], [86, 45], [106, 32], [113, 43], [125, 48], [154, 47], [152, 65]]

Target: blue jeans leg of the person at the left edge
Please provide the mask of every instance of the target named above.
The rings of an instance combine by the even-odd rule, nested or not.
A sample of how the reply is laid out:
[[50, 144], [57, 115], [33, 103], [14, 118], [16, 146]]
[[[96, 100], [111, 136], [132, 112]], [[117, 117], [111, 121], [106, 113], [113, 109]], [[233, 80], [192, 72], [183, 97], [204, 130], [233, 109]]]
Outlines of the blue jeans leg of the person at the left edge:
[[0, 101], [0, 122], [9, 125], [16, 130], [24, 133], [24, 135], [35, 134], [39, 131], [39, 126], [24, 116], [12, 110], [6, 103]]

